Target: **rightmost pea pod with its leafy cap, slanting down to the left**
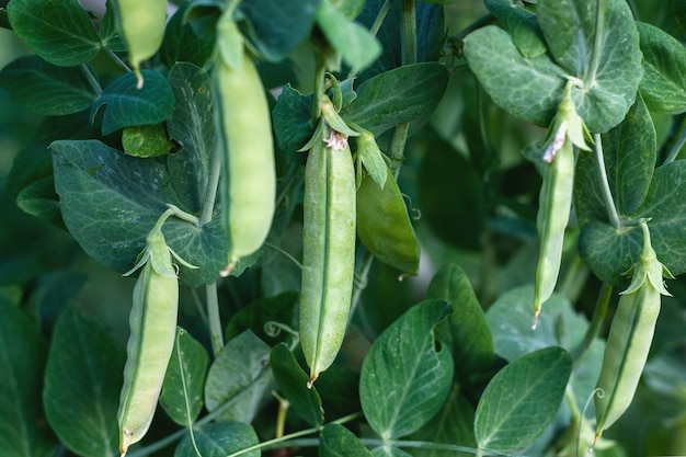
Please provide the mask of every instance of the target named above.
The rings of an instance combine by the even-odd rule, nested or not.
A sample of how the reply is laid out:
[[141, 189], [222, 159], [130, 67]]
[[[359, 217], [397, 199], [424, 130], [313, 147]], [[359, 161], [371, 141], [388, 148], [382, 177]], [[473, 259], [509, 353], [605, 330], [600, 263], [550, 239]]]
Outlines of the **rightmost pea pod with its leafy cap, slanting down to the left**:
[[643, 251], [633, 266], [629, 287], [621, 293], [607, 336], [595, 396], [596, 439], [629, 408], [636, 393], [660, 315], [662, 277], [673, 277], [655, 255], [648, 225], [641, 222]]

